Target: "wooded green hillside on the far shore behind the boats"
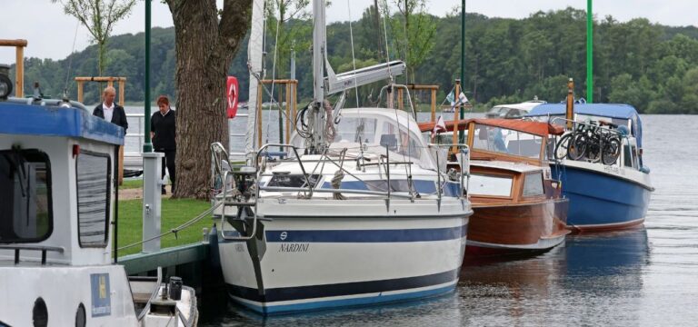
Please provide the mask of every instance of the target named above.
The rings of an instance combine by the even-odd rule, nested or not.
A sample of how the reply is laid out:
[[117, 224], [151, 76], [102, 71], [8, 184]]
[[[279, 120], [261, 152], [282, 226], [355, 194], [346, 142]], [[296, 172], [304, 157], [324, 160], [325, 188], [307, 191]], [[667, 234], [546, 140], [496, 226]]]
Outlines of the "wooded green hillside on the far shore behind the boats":
[[[286, 5], [283, 28], [279, 36], [279, 56], [276, 76], [290, 75], [289, 50], [294, 42], [296, 78], [299, 80], [299, 106], [302, 99], [312, 98], [312, 54], [310, 41], [313, 22], [307, 13], [295, 13], [294, 4], [304, 0], [270, 0]], [[419, 4], [419, 1], [409, 1]], [[274, 7], [278, 8], [278, 6]], [[419, 13], [419, 7], [413, 12]], [[277, 10], [277, 9], [274, 9]], [[278, 19], [278, 11], [277, 18]], [[457, 13], [456, 13], [457, 14]], [[373, 8], [366, 9], [352, 22], [354, 57], [357, 68], [386, 60], [384, 53], [384, 20], [376, 30]], [[416, 25], [412, 15], [410, 26]], [[401, 37], [404, 40], [404, 15], [399, 12], [385, 18], [387, 22], [390, 60], [413, 60], [409, 67], [415, 84], [440, 85], [437, 102], [453, 88], [460, 76], [460, 16], [433, 17], [424, 15], [434, 24], [434, 33], [418, 36], [409, 33], [414, 41], [431, 42], [424, 51], [423, 60], [414, 62], [409, 54], [397, 51]], [[400, 27], [400, 26], [403, 27]], [[267, 21], [265, 67], [266, 78], [271, 78], [274, 64], [276, 21]], [[474, 104], [501, 104], [533, 99], [548, 102], [563, 101], [567, 79], [575, 82], [575, 95], [586, 97], [586, 13], [567, 8], [558, 11], [537, 12], [521, 20], [489, 18], [467, 14], [465, 27], [465, 81], [464, 93]], [[400, 28], [403, 28], [401, 31]], [[412, 29], [408, 29], [412, 30]], [[428, 32], [428, 29], [424, 29]], [[174, 28], [154, 28], [152, 35], [152, 79], [154, 94], [175, 93], [175, 33]], [[611, 16], [594, 22], [594, 100], [633, 104], [644, 113], [698, 114], [698, 28], [693, 26], [669, 27], [653, 25], [643, 18], [620, 23]], [[327, 26], [327, 54], [335, 73], [354, 69], [349, 22]], [[143, 101], [144, 34], [117, 35], [109, 40], [107, 58], [110, 66], [106, 73], [125, 76], [126, 100]], [[238, 77], [241, 100], [247, 98], [247, 40], [234, 58], [228, 74]], [[414, 48], [412, 46], [411, 48]], [[96, 45], [64, 60], [25, 59], [25, 90], [38, 81], [44, 94], [60, 96], [65, 87], [68, 63], [71, 63], [68, 92], [75, 98], [75, 76], [98, 74], [99, 57]], [[404, 55], [407, 55], [405, 57]], [[415, 64], [416, 63], [416, 64]], [[14, 75], [12, 73], [11, 75]], [[398, 80], [402, 81], [402, 80]], [[362, 105], [374, 103], [383, 84], [365, 85], [358, 96], [349, 94], [347, 105], [354, 105], [358, 97]], [[99, 85], [85, 84], [85, 103], [99, 101]], [[373, 98], [369, 99], [369, 94]], [[428, 93], [415, 93], [422, 103], [429, 101]], [[264, 94], [264, 101], [269, 101]]]

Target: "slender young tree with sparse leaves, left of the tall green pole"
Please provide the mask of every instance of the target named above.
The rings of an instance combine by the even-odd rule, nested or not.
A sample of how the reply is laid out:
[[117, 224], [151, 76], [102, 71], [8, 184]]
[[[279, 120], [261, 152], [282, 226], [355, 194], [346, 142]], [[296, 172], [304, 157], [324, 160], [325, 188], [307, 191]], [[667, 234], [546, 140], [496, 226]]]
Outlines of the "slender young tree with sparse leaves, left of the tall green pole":
[[[51, 0], [55, 3], [59, 0]], [[60, 0], [65, 14], [85, 25], [98, 48], [97, 71], [104, 74], [106, 45], [116, 22], [128, 16], [135, 0]]]

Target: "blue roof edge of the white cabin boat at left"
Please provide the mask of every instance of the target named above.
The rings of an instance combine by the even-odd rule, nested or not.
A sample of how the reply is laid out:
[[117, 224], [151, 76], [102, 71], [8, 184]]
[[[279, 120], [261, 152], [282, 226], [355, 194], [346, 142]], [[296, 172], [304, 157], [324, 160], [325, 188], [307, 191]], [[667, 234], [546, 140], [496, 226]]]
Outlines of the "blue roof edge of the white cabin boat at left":
[[85, 138], [124, 144], [124, 129], [82, 108], [0, 102], [0, 134]]

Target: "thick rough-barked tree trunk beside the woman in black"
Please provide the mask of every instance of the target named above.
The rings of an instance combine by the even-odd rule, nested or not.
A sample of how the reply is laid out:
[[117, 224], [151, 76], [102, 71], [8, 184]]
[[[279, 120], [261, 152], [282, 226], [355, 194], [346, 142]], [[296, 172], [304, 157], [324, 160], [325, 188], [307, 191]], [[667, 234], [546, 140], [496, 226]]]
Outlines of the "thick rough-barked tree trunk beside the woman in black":
[[[148, 0], [146, 0], [148, 1]], [[225, 75], [250, 23], [252, 0], [166, 0], [175, 22], [175, 197], [208, 197], [210, 145], [228, 147]]]

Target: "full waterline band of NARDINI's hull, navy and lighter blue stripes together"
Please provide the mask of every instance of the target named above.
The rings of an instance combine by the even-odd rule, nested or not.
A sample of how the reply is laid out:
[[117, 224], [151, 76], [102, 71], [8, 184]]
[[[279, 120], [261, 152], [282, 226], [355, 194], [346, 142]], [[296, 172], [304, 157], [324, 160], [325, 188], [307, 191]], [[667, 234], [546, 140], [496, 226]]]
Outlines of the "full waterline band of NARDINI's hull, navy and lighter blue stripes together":
[[[450, 272], [441, 272], [425, 276], [405, 277], [384, 281], [368, 281], [368, 282], [344, 282], [329, 285], [313, 285], [286, 287], [265, 290], [264, 295], [260, 295], [256, 289], [227, 284], [228, 293], [233, 300], [242, 298], [248, 301], [263, 302], [266, 305], [261, 306], [254, 303], [236, 301], [240, 304], [262, 314], [278, 314], [290, 312], [303, 312], [312, 310], [321, 310], [329, 308], [340, 308], [355, 305], [398, 302], [429, 296], [436, 296], [445, 292], [451, 292], [458, 282], [460, 269], [455, 269]], [[383, 292], [392, 291], [407, 291], [410, 289], [424, 288], [452, 282], [444, 287], [433, 290], [420, 290], [414, 292], [403, 292], [399, 294], [383, 294]], [[359, 295], [379, 293], [378, 295], [357, 297], [352, 299], [338, 300], [323, 300], [323, 298], [347, 295]], [[274, 302], [282, 301], [297, 301], [304, 302], [294, 304], [278, 304]]]

